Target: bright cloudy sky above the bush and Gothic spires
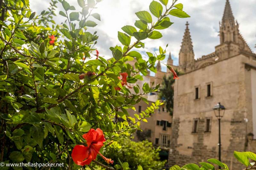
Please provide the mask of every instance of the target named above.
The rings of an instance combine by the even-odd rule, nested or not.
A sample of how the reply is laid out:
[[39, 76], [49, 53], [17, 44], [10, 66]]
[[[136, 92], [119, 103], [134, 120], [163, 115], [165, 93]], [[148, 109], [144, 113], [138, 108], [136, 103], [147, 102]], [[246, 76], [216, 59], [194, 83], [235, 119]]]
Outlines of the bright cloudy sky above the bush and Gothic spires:
[[[70, 5], [76, 7], [76, 11], [81, 11], [81, 7], [77, 4], [77, 0], [66, 0]], [[101, 21], [94, 18], [98, 25], [89, 28], [93, 33], [97, 31], [99, 36], [96, 48], [100, 51], [100, 56], [110, 58], [112, 56], [109, 47], [116, 45], [121, 46], [117, 39], [117, 31], [122, 31], [121, 28], [125, 25], [134, 26], [135, 20], [138, 20], [135, 12], [149, 11], [149, 4], [152, 0], [103, 0], [97, 4], [97, 9], [92, 13], [99, 13]], [[171, 1], [171, 0], [169, 0]], [[240, 33], [254, 53], [256, 53], [256, 0], [229, 0], [233, 15], [239, 23]], [[41, 11], [49, 7], [50, 0], [30, 0], [30, 8], [40, 14]], [[170, 16], [172, 26], [165, 30], [158, 30], [163, 34], [163, 37], [158, 40], [147, 39], [145, 48], [139, 48], [140, 52], [146, 56], [146, 52], [157, 52], [159, 46], [166, 48], [167, 53], [172, 54], [174, 65], [178, 65], [179, 52], [182, 38], [185, 31], [186, 21], [189, 22], [190, 35], [192, 38], [195, 58], [201, 58], [202, 55], [207, 55], [215, 51], [215, 46], [219, 45], [220, 38], [218, 36], [219, 21], [222, 19], [226, 0], [178, 0], [177, 3], [184, 5], [183, 10], [187, 12], [190, 18], [177, 18]], [[64, 9], [58, 3], [56, 11], [57, 17], [54, 18], [56, 23], [61, 23], [65, 20], [59, 15], [59, 11]], [[156, 21], [156, 18], [153, 17]], [[133, 39], [132, 39], [133, 40]], [[133, 42], [133, 41], [132, 41]], [[164, 60], [166, 62], [168, 57]], [[162, 65], [162, 70], [166, 70]]]

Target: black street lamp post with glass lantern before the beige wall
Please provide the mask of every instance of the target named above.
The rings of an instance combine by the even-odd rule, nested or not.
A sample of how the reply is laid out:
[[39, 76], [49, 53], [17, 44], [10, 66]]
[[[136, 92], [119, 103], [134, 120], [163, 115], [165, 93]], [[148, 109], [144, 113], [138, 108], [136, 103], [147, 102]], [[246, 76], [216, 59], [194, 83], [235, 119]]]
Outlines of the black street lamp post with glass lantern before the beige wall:
[[[219, 161], [221, 161], [221, 142], [220, 142], [220, 119], [224, 116], [224, 113], [225, 113], [225, 107], [223, 105], [220, 104], [220, 102], [215, 105], [213, 108], [214, 110], [214, 114], [215, 116], [218, 118], [219, 120]], [[222, 111], [223, 110], [223, 111]], [[219, 169], [221, 167], [219, 166]]]

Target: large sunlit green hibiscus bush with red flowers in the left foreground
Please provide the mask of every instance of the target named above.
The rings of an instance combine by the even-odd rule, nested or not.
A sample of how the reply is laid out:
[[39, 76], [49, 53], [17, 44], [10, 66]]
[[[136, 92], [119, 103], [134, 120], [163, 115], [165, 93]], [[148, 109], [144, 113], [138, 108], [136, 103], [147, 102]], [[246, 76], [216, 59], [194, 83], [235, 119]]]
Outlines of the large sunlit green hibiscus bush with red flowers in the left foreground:
[[[140, 73], [156, 72], [156, 61], [164, 60], [166, 53], [159, 47], [158, 54], [147, 52], [149, 58], [143, 59], [134, 48], [144, 48], [147, 38], [161, 38], [156, 30], [173, 24], [169, 15], [189, 17], [182, 4], [152, 1], [149, 11], [155, 18], [148, 11], [137, 12], [137, 28], [122, 27], [124, 33], [117, 33], [122, 45], [110, 47], [113, 58], [106, 60], [96, 50], [97, 33], [88, 31], [100, 20], [100, 14], [92, 11], [101, 0], [77, 0], [79, 11], [65, 0], [58, 1], [52, 0], [48, 10], [38, 15], [30, 10], [29, 0], [0, 0], [1, 162], [64, 163], [64, 169], [81, 168], [72, 161], [72, 150], [80, 145], [76, 148], [91, 151], [88, 147], [93, 149], [98, 140], [97, 135], [97, 140], [88, 137], [96, 134], [94, 129], [104, 133], [97, 131], [100, 147], [108, 147], [119, 135], [134, 133], [140, 121], [163, 104], [156, 101], [135, 117], [127, 112], [140, 101], [148, 103], [144, 94], [157, 91], [159, 85], [134, 83], [143, 80]], [[66, 20], [61, 25], [52, 19], [57, 3], [62, 4], [59, 14]], [[134, 66], [127, 63], [134, 59]], [[100, 147], [94, 148], [97, 153], [92, 160], [108, 167], [94, 160]]]

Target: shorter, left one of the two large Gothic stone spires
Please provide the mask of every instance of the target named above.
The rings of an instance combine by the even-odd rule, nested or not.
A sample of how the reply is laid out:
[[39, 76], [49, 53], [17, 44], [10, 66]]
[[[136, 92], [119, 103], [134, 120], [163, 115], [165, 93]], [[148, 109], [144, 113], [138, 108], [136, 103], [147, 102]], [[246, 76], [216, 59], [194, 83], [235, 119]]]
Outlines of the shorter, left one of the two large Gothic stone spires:
[[188, 25], [187, 22], [179, 53], [179, 70], [182, 72], [189, 72], [195, 68], [195, 54]]

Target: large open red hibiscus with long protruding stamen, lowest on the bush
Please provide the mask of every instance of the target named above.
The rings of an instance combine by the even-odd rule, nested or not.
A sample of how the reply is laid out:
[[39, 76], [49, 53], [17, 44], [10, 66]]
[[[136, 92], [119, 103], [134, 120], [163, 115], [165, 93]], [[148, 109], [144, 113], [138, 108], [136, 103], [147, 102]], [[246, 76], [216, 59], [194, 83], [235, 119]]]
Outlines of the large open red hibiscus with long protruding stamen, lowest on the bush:
[[104, 134], [100, 128], [90, 129], [88, 133], [83, 135], [86, 140], [87, 146], [76, 145], [72, 151], [71, 157], [77, 165], [89, 165], [92, 160], [96, 159], [97, 155], [100, 156], [109, 164], [114, 161], [104, 157], [99, 151], [106, 141]]

